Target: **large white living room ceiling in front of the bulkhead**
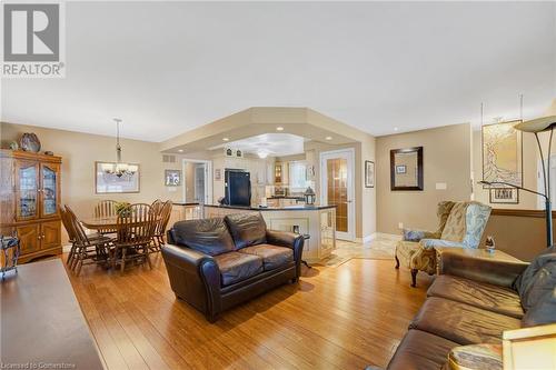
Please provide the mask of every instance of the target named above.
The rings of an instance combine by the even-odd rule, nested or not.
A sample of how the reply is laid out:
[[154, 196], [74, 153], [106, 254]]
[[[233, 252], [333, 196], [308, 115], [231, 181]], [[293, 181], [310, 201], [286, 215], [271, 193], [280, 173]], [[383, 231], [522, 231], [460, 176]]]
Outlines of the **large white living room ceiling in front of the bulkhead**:
[[161, 141], [249, 107], [373, 134], [543, 112], [555, 2], [68, 2], [67, 78], [2, 80], [1, 119]]

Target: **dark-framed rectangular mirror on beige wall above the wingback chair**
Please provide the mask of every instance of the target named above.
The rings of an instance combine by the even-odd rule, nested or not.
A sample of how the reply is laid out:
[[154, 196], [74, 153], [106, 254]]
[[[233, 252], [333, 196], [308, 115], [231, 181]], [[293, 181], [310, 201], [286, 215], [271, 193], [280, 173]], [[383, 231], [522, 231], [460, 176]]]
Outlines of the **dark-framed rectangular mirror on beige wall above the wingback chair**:
[[423, 147], [390, 150], [390, 190], [423, 190]]

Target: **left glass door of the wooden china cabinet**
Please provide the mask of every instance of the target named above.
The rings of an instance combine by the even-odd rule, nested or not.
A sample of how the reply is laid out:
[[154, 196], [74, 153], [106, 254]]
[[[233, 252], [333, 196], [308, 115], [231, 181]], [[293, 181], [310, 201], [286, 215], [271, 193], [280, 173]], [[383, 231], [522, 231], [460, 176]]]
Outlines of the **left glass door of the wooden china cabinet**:
[[16, 164], [16, 218], [28, 220], [38, 216], [38, 171], [36, 162], [20, 161]]

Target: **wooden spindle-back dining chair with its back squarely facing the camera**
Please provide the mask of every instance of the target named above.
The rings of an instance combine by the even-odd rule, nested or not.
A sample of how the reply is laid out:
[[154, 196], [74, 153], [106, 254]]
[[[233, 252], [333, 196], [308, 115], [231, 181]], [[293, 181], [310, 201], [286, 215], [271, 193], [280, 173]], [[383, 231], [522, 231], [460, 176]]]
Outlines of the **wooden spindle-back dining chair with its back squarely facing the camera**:
[[117, 238], [113, 241], [111, 252], [112, 268], [120, 263], [123, 272], [126, 263], [131, 260], [147, 261], [149, 268], [152, 264], [149, 259], [149, 246], [156, 230], [156, 214], [149, 204], [137, 203], [129, 206], [128, 216], [118, 216]]

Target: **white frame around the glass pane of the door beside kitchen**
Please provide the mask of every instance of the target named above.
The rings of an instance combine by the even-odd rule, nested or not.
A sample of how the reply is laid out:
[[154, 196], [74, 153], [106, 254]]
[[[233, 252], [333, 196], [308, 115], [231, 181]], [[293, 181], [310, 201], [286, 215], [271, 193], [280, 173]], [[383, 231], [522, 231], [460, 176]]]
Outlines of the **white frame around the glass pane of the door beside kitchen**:
[[355, 229], [356, 229], [356, 210], [355, 210], [355, 148], [344, 148], [337, 150], [321, 151], [319, 153], [320, 162], [320, 203], [327, 203], [327, 168], [326, 160], [332, 158], [339, 158], [335, 156], [345, 156], [348, 166], [348, 177], [347, 177], [347, 191], [348, 191], [348, 231], [342, 232], [336, 230], [336, 238], [341, 240], [355, 241]]

